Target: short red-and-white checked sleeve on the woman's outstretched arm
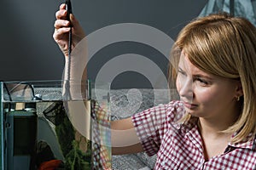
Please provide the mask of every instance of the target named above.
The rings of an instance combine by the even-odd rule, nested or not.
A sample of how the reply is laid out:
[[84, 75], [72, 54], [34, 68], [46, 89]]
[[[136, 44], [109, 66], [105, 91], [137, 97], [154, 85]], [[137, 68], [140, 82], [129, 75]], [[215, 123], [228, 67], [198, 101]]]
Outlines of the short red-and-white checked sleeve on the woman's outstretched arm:
[[172, 101], [166, 105], [157, 105], [131, 117], [148, 156], [153, 156], [160, 149], [161, 139], [175, 119], [177, 106], [179, 107], [177, 104], [177, 101]]

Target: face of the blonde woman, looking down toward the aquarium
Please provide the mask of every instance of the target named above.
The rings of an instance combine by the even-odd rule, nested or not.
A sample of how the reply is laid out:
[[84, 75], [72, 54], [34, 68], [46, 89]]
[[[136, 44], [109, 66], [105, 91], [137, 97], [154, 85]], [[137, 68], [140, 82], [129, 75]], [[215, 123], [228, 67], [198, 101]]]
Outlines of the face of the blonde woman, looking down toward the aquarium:
[[177, 92], [193, 116], [230, 118], [236, 115], [236, 97], [241, 93], [236, 80], [214, 76], [192, 65], [182, 53], [177, 73]]

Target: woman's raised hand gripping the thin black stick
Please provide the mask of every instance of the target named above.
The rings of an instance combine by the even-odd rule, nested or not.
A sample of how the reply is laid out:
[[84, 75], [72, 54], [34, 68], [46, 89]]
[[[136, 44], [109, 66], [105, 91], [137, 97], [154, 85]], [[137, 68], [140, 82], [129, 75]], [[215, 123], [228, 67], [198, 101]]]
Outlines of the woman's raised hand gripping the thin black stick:
[[67, 10], [65, 4], [61, 4], [60, 9], [55, 13], [55, 32], [53, 37], [55, 42], [61, 48], [62, 53], [68, 56], [68, 35], [72, 26], [72, 49], [79, 43], [84, 37], [84, 30], [79, 25], [79, 21], [75, 19], [73, 14], [70, 14], [70, 21], [67, 20]]

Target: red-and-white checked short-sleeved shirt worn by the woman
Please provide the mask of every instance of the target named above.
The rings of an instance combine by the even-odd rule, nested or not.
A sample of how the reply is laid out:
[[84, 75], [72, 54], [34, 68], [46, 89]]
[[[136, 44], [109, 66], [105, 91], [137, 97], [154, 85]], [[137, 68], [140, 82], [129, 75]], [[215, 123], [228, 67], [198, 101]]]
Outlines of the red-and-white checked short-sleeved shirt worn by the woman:
[[148, 156], [157, 154], [154, 169], [255, 170], [256, 138], [229, 144], [223, 154], [205, 161], [197, 118], [177, 123], [184, 114], [180, 101], [158, 105], [132, 116]]

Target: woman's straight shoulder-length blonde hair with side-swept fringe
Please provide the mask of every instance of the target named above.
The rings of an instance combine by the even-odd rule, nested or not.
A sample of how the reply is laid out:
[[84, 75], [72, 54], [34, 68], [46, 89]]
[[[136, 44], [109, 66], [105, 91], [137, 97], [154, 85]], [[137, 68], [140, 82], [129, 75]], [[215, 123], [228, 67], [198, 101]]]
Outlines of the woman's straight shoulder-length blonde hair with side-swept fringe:
[[[241, 115], [224, 133], [236, 133], [232, 142], [256, 134], [256, 28], [246, 19], [211, 14], [190, 22], [172, 48], [169, 76], [177, 76], [181, 50], [189, 61], [207, 73], [241, 81]], [[189, 120], [189, 115], [183, 120]]]

